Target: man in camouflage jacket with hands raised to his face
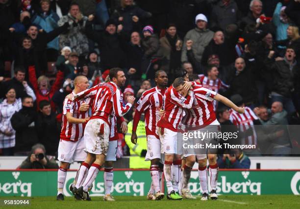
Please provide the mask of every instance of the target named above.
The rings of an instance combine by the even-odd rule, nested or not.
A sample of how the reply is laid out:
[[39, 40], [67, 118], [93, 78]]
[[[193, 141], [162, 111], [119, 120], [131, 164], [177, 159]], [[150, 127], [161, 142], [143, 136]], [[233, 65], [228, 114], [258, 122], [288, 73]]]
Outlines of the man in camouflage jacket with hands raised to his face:
[[70, 5], [68, 15], [59, 19], [58, 25], [71, 23], [69, 32], [61, 34], [59, 37], [59, 47], [70, 46], [79, 56], [85, 56], [89, 52], [89, 43], [85, 35], [85, 23], [87, 17], [83, 16], [76, 3]]

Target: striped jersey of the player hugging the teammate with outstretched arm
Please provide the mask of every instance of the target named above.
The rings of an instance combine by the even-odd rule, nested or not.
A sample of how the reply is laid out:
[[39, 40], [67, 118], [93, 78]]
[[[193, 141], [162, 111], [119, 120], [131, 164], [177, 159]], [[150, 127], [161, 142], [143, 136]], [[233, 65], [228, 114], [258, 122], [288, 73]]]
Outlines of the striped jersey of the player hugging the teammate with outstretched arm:
[[173, 86], [170, 86], [164, 96], [165, 113], [158, 120], [157, 126], [178, 132], [181, 128], [183, 108], [192, 108], [194, 92], [189, 91], [187, 97], [181, 96]]

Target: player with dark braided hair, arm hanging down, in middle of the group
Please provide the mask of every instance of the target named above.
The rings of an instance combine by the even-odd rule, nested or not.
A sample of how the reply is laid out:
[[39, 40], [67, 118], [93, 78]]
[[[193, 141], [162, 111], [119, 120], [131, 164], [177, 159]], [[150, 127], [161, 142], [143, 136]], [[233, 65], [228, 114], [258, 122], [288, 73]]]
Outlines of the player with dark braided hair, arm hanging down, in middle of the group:
[[[163, 99], [167, 90], [166, 86], [168, 85], [168, 75], [164, 70], [158, 70], [155, 72], [154, 80], [156, 82], [156, 87], [144, 92], [137, 102], [138, 106], [133, 117], [131, 142], [134, 144], [137, 142], [136, 129], [142, 113], [145, 113], [147, 135], [147, 154], [145, 161], [151, 161], [150, 175], [152, 179], [150, 192], [147, 197], [149, 199], [160, 200], [164, 197], [164, 193], [161, 192], [159, 183], [162, 173], [159, 172], [158, 166], [161, 158], [161, 142], [158, 136], [158, 127], [156, 124], [159, 119], [159, 110], [163, 106]], [[155, 198], [152, 197], [153, 195]]]

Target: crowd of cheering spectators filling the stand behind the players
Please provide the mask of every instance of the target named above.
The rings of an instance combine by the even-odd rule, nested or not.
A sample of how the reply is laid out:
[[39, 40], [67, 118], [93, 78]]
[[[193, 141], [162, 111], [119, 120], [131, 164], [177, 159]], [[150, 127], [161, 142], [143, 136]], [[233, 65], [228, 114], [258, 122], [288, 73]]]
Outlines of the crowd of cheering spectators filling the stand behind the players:
[[298, 124], [299, 26], [300, 0], [0, 0], [1, 153], [41, 143], [54, 156], [75, 77], [93, 87], [115, 67], [126, 74], [124, 102], [154, 87], [156, 70], [170, 85], [185, 70], [239, 94], [262, 124]]

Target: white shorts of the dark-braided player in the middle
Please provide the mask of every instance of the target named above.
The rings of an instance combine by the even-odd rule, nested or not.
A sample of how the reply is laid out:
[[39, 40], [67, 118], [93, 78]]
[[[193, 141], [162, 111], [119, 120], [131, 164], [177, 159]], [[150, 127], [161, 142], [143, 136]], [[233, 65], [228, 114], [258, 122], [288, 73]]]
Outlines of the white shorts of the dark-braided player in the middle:
[[161, 157], [161, 142], [154, 135], [147, 136], [147, 154], [145, 161], [160, 159]]

